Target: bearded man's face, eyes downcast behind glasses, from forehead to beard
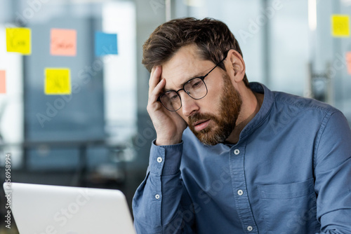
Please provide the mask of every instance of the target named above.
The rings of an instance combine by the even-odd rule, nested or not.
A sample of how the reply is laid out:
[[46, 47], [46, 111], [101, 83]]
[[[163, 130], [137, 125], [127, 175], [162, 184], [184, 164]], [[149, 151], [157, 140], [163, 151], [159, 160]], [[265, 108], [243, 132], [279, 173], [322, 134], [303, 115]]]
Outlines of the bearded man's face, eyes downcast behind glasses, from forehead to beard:
[[[171, 60], [162, 65], [161, 78], [166, 79], [165, 90], [179, 90], [182, 83], [195, 76], [204, 76], [216, 64], [201, 60], [196, 46], [180, 48]], [[190, 130], [204, 144], [224, 142], [234, 130], [241, 109], [241, 97], [230, 77], [217, 67], [204, 79], [208, 93], [202, 99], [192, 99], [183, 90], [179, 95], [182, 108], [177, 113]]]

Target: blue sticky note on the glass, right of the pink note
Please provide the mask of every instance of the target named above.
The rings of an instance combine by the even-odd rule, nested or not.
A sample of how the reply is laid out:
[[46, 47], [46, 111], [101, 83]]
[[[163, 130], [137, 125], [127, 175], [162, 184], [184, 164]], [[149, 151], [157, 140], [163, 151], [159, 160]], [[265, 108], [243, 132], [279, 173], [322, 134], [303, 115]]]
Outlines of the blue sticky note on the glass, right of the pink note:
[[95, 32], [95, 55], [117, 55], [117, 34]]

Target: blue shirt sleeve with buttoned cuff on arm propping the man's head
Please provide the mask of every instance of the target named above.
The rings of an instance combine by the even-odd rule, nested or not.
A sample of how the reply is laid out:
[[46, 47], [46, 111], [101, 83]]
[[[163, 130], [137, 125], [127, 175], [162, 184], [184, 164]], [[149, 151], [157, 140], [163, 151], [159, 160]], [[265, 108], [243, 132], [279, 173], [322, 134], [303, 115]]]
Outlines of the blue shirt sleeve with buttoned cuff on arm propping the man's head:
[[152, 142], [147, 175], [133, 198], [137, 233], [191, 233], [192, 220], [184, 221], [181, 205], [181, 200], [190, 199], [180, 176], [182, 153], [183, 142], [172, 146]]

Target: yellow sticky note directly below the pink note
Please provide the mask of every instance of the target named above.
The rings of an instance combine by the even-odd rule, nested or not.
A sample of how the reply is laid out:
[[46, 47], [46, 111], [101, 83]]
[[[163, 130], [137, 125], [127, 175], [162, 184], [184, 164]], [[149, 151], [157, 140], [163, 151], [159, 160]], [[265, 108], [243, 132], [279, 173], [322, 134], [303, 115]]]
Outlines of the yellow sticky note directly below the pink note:
[[71, 78], [68, 68], [45, 69], [45, 94], [70, 95]]

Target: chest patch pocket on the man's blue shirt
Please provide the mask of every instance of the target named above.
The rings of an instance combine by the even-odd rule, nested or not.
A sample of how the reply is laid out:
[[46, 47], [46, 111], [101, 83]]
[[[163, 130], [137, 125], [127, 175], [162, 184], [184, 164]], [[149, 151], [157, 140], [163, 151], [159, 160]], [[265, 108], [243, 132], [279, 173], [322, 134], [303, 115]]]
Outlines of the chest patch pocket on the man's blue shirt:
[[313, 178], [293, 184], [258, 186], [265, 233], [303, 234], [318, 230]]

